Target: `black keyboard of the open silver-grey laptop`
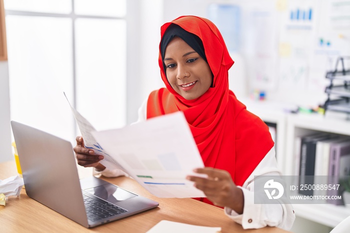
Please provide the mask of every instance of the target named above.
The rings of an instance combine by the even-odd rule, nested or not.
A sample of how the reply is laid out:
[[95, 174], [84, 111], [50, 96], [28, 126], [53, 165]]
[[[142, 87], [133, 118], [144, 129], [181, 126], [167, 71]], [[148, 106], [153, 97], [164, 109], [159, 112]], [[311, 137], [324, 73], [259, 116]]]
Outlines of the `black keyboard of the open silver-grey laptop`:
[[86, 195], [84, 193], [82, 196], [84, 198], [87, 219], [91, 221], [97, 221], [127, 212], [127, 210], [96, 196]]

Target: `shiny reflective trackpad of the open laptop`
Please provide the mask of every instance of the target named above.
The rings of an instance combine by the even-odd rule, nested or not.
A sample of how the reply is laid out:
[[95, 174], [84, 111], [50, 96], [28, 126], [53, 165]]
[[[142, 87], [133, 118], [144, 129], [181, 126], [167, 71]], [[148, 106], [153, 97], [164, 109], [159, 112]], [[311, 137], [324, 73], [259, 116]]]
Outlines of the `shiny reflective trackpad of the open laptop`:
[[110, 183], [106, 183], [97, 187], [87, 188], [84, 190], [110, 203], [116, 203], [118, 201], [137, 196]]

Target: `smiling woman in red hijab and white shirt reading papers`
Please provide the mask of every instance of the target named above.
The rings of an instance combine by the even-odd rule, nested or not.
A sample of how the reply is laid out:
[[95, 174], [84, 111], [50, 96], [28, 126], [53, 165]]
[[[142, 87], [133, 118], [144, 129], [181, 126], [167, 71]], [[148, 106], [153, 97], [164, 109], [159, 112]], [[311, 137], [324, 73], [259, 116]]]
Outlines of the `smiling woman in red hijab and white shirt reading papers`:
[[[254, 175], [280, 172], [268, 127], [228, 89], [233, 60], [216, 26], [196, 16], [165, 23], [158, 62], [166, 88], [150, 93], [139, 110], [139, 120], [184, 112], [205, 165], [195, 172], [208, 176], [187, 177], [207, 196], [198, 199], [224, 207], [243, 228], [290, 228], [295, 218], [291, 205], [254, 204]], [[106, 176], [122, 174], [104, 169], [98, 163], [103, 156], [84, 148], [81, 137], [76, 140], [79, 165], [94, 166]]]

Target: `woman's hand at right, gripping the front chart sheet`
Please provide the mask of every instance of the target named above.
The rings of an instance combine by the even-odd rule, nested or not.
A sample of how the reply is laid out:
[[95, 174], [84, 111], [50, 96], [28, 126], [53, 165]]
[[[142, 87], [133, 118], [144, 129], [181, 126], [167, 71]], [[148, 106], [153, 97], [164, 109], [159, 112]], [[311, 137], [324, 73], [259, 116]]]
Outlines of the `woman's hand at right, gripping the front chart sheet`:
[[207, 174], [207, 178], [188, 175], [187, 179], [204, 192], [206, 197], [217, 206], [226, 206], [237, 213], [243, 212], [243, 192], [232, 181], [226, 170], [212, 167], [196, 168], [194, 172]]

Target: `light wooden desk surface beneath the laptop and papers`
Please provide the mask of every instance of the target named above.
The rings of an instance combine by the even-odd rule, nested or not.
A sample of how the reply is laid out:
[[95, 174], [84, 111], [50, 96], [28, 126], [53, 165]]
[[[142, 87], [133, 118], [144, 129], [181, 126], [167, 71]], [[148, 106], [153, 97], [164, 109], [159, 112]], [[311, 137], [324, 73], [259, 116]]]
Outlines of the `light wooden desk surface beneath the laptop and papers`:
[[[0, 163], [0, 179], [16, 175], [14, 161]], [[191, 198], [157, 198], [127, 177], [103, 178], [122, 188], [159, 202], [159, 206], [145, 212], [87, 229], [54, 210], [29, 198], [22, 188], [20, 195], [6, 198], [0, 205], [1, 232], [130, 232], [144, 233], [160, 220], [171, 220], [193, 225], [220, 226], [221, 232], [282, 233], [277, 227], [243, 230], [221, 208]], [[64, 201], [64, 198], [60, 201]], [[58, 200], [57, 200], [58, 201]]]

